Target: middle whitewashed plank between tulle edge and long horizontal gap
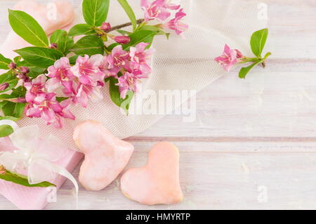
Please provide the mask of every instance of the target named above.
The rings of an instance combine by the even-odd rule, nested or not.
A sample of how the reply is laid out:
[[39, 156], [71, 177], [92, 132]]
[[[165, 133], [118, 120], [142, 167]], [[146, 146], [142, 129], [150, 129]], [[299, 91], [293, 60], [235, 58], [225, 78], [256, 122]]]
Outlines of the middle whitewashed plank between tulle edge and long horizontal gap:
[[315, 72], [230, 73], [197, 95], [194, 122], [173, 114], [137, 136], [315, 137], [315, 99]]

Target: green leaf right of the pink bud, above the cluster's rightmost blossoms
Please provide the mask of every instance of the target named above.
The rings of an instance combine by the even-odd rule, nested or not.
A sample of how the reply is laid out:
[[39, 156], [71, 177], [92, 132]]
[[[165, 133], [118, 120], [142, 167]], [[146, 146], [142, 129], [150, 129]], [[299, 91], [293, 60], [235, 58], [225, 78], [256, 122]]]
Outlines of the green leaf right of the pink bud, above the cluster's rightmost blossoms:
[[[157, 34], [157, 31], [152, 30], [139, 30], [131, 34], [129, 37], [131, 37], [131, 42], [129, 44], [123, 45], [123, 49], [125, 51], [129, 51], [129, 48], [131, 46], [136, 46], [137, 44], [140, 44], [141, 42], [152, 44], [152, 41], [154, 40], [154, 36]], [[147, 46], [147, 48], [150, 47]]]

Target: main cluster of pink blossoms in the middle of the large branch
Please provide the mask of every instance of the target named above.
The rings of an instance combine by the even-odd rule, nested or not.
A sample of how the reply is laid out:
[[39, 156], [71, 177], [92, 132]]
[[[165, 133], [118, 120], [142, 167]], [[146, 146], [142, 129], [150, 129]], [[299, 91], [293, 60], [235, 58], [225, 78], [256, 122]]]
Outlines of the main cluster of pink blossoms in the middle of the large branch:
[[[70, 65], [69, 58], [60, 58], [48, 67], [48, 74], [25, 81], [27, 117], [41, 117], [46, 124], [61, 128], [61, 117], [75, 119], [70, 105], [86, 107], [89, 99], [103, 99], [101, 88], [107, 77], [118, 80], [121, 98], [126, 98], [127, 92], [136, 92], [140, 79], [147, 78], [152, 71], [149, 62], [154, 51], [146, 49], [148, 45], [142, 42], [129, 52], [119, 45], [110, 55], [79, 56], [74, 66]], [[56, 99], [55, 91], [59, 88], [66, 98], [62, 102]]]

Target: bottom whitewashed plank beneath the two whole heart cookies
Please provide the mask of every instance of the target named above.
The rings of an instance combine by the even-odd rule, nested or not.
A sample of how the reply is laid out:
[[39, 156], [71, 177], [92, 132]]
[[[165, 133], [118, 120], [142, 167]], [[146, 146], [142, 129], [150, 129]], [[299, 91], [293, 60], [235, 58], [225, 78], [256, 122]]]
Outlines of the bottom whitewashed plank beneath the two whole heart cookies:
[[[133, 143], [129, 167], [143, 166], [152, 142]], [[126, 199], [115, 180], [100, 192], [79, 191], [79, 209], [316, 209], [316, 143], [175, 143], [185, 199], [143, 206]], [[77, 178], [79, 169], [74, 171]], [[46, 209], [74, 209], [72, 183]], [[265, 198], [266, 196], [266, 198]], [[14, 209], [0, 197], [0, 209]]]

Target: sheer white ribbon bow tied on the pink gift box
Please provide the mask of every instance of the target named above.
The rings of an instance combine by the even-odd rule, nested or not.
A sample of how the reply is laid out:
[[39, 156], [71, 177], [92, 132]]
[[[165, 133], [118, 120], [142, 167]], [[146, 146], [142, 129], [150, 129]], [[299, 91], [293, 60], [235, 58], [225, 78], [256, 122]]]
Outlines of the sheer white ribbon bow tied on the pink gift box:
[[67, 150], [58, 138], [48, 136], [39, 138], [37, 125], [18, 127], [14, 121], [1, 120], [0, 125], [9, 125], [14, 132], [9, 136], [13, 145], [18, 148], [14, 152], [0, 152], [0, 164], [9, 171], [27, 170], [29, 184], [37, 184], [52, 180], [56, 173], [72, 181], [78, 195], [78, 183], [67, 169], [55, 164], [67, 154]]

